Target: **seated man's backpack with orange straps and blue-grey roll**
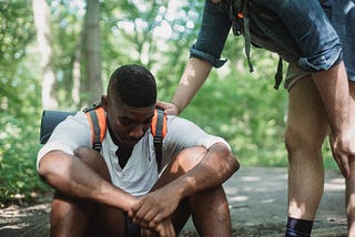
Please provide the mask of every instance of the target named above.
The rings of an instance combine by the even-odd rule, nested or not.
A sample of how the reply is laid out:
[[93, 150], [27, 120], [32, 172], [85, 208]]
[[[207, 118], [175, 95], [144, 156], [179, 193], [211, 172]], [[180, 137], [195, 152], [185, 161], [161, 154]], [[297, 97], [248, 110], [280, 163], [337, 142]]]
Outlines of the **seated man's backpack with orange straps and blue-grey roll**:
[[[105, 112], [100, 103], [85, 107], [83, 112], [87, 114], [91, 128], [92, 148], [100, 152], [106, 131]], [[73, 112], [44, 110], [41, 118], [40, 143], [45, 144], [55, 126], [67, 118], [67, 116], [74, 114], [75, 113]], [[161, 109], [155, 109], [154, 111], [154, 116], [151, 123], [151, 132], [154, 137], [155, 157], [159, 172], [161, 171], [162, 163], [162, 143], [168, 132], [166, 116]]]

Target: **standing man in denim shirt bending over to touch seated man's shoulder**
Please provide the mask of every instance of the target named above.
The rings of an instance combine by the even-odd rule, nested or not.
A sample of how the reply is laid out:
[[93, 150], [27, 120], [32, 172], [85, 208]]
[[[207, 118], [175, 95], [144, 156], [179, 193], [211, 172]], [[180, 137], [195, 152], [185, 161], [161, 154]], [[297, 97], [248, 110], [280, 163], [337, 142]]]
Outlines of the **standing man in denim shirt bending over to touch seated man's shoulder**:
[[290, 64], [284, 83], [290, 162], [285, 235], [311, 235], [323, 195], [322, 144], [329, 135], [334, 158], [346, 178], [348, 234], [355, 236], [354, 0], [205, 0], [199, 38], [172, 103], [159, 103], [166, 114], [179, 114], [212, 66], [224, 64], [221, 54], [231, 28], [245, 38], [251, 71], [252, 44], [278, 53]]

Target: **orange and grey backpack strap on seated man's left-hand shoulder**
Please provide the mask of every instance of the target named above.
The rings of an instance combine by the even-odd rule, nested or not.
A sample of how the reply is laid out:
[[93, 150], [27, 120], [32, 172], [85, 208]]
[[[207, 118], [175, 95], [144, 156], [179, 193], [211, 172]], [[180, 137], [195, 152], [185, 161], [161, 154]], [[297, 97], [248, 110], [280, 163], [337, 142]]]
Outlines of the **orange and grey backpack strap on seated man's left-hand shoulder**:
[[85, 109], [84, 112], [91, 128], [92, 148], [100, 152], [102, 147], [101, 143], [106, 134], [106, 116], [104, 110], [98, 105]]

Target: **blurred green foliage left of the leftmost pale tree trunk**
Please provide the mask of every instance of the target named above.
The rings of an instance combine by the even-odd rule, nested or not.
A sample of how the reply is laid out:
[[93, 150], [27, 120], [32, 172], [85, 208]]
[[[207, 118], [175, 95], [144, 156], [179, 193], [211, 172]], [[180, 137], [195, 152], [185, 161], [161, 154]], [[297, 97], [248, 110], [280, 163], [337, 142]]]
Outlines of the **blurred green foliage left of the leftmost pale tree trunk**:
[[41, 110], [31, 1], [0, 1], [0, 207], [47, 192], [36, 172]]

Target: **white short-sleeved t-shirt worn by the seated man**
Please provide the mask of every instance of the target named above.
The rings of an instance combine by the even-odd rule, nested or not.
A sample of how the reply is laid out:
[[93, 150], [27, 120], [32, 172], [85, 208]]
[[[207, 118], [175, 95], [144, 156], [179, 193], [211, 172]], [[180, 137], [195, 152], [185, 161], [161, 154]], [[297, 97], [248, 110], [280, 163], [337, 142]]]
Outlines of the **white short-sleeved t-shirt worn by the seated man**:
[[[206, 134], [194, 123], [178, 116], [168, 116], [168, 133], [162, 144], [162, 167], [182, 150], [192, 146], [210, 148], [217, 142], [229, 144], [219, 136]], [[39, 161], [49, 152], [59, 150], [70, 155], [79, 147], [92, 147], [91, 130], [83, 112], [68, 116], [53, 131], [47, 144], [39, 151]], [[118, 145], [111, 138], [109, 130], [102, 141], [101, 155], [110, 172], [114, 186], [135, 197], [146, 194], [159, 178], [155, 148], [151, 130], [133, 147], [132, 155], [122, 169], [115, 154]]]

